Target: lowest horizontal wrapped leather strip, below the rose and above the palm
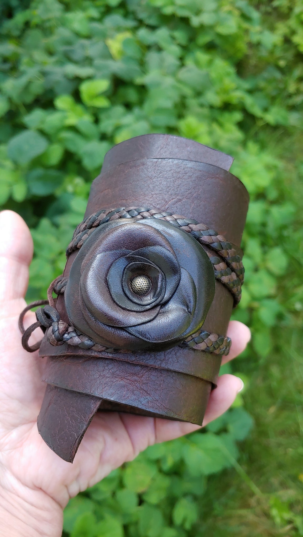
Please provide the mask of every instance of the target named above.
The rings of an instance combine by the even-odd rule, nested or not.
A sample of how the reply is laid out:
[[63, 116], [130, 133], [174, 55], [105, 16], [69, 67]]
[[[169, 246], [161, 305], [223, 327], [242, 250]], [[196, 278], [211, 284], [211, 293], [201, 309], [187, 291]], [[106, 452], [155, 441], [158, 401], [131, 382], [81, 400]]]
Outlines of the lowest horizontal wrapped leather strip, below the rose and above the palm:
[[52, 359], [45, 380], [61, 388], [68, 384], [75, 393], [139, 407], [159, 417], [165, 412], [165, 417], [200, 425], [212, 388], [210, 382], [194, 376], [102, 358]]

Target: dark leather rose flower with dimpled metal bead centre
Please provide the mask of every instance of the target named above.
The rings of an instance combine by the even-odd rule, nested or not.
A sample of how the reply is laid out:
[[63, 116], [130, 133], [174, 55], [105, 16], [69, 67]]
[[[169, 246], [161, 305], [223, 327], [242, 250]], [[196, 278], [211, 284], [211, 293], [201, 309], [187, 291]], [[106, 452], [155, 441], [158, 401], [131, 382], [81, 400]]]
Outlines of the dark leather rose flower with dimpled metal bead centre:
[[114, 220], [77, 253], [65, 291], [69, 321], [96, 343], [168, 349], [201, 328], [215, 292], [212, 263], [193, 237], [155, 219]]

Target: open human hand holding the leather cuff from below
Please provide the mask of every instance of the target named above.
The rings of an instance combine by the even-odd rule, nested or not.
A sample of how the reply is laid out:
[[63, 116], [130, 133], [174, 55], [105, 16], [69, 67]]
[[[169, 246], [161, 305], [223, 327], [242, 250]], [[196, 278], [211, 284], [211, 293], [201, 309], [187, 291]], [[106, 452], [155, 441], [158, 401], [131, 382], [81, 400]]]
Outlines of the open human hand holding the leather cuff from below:
[[[44, 360], [21, 345], [18, 318], [32, 259], [32, 238], [22, 218], [0, 213], [0, 528], [10, 537], [60, 537], [62, 511], [69, 498], [97, 483], [110, 471], [132, 460], [155, 442], [190, 433], [199, 427], [160, 418], [118, 412], [97, 412], [71, 465], [55, 455], [39, 436], [37, 416], [45, 392], [41, 382]], [[25, 317], [25, 326], [36, 320]], [[38, 332], [38, 330], [36, 331]], [[41, 339], [41, 334], [32, 338]], [[235, 358], [250, 339], [249, 329], [231, 321], [231, 350]], [[225, 412], [241, 379], [222, 375], [212, 391], [203, 425]]]

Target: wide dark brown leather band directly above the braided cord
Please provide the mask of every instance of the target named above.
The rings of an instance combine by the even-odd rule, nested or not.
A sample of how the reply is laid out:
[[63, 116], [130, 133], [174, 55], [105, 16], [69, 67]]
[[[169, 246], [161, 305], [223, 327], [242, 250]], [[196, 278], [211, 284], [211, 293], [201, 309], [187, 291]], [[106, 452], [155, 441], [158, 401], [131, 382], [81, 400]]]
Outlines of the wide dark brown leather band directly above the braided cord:
[[248, 201], [244, 185], [216, 165], [145, 158], [101, 172], [91, 185], [85, 216], [100, 208], [157, 207], [203, 222], [239, 246]]

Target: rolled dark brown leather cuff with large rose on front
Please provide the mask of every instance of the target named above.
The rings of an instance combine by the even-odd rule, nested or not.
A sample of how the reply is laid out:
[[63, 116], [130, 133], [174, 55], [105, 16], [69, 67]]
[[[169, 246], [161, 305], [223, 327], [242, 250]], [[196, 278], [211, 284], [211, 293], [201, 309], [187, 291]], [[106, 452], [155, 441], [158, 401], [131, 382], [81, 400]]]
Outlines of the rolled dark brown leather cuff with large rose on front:
[[[55, 331], [52, 320], [44, 316], [42, 323], [47, 389], [38, 430], [62, 459], [73, 461], [97, 410], [202, 424], [221, 355], [182, 342], [201, 342], [199, 333], [205, 333], [208, 342], [217, 335], [222, 344], [234, 296], [215, 272], [232, 271], [233, 264], [243, 277], [240, 244], [249, 197], [229, 172], [231, 164], [220, 151], [163, 134], [138, 136], [105, 155], [84, 221], [101, 209], [111, 216], [89, 229], [83, 243], [77, 238], [55, 286], [60, 322]], [[132, 209], [112, 213], [124, 207], [151, 213], [139, 220]], [[161, 214], [153, 217], [153, 209]], [[216, 252], [201, 245], [182, 230], [184, 222], [165, 221], [170, 215], [216, 230], [229, 253], [222, 244]], [[64, 342], [67, 326], [78, 343], [83, 334], [104, 350]]]

